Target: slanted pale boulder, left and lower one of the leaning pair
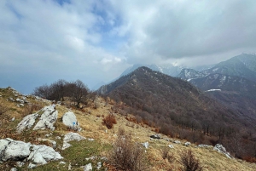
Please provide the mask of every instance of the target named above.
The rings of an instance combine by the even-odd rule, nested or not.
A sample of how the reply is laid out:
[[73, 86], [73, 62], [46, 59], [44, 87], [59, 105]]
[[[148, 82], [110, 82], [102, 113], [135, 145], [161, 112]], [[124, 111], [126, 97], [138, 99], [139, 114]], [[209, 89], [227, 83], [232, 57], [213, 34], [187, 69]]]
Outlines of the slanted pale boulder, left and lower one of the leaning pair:
[[36, 122], [38, 118], [38, 114], [34, 113], [31, 115], [27, 115], [22, 119], [22, 121], [17, 126], [17, 132], [21, 133], [26, 128], [32, 128], [33, 124]]

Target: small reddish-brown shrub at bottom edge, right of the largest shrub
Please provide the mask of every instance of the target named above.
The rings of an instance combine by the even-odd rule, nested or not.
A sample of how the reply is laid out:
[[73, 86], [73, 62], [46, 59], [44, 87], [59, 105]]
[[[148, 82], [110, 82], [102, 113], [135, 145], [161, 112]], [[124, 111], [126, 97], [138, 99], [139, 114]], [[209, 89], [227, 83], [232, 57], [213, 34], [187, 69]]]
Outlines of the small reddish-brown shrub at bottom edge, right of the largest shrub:
[[191, 150], [183, 151], [180, 157], [181, 157], [180, 162], [183, 165], [183, 168], [181, 168], [181, 170], [183, 171], [201, 171], [202, 170], [200, 161], [195, 158]]

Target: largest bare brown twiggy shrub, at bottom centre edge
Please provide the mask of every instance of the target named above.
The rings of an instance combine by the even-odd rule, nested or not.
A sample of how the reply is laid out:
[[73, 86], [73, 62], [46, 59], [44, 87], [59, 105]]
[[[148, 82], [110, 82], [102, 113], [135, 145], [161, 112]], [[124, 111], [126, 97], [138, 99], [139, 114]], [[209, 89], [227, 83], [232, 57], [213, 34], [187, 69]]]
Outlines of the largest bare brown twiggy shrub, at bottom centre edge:
[[146, 170], [145, 153], [142, 145], [131, 141], [131, 134], [119, 128], [117, 140], [113, 144], [113, 150], [109, 155], [109, 161], [116, 170], [143, 171]]

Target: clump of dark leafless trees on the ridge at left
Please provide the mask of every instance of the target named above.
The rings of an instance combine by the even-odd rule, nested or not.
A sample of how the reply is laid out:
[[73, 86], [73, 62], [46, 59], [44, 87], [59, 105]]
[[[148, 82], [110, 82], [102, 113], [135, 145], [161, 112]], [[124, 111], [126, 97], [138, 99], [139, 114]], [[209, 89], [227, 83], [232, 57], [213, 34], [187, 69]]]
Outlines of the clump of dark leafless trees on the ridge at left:
[[43, 86], [39, 86], [34, 89], [32, 94], [46, 100], [55, 101], [64, 101], [65, 98], [69, 98], [76, 103], [77, 107], [81, 103], [86, 105], [87, 100], [95, 96], [82, 81], [67, 82], [63, 79], [50, 85], [44, 84]]

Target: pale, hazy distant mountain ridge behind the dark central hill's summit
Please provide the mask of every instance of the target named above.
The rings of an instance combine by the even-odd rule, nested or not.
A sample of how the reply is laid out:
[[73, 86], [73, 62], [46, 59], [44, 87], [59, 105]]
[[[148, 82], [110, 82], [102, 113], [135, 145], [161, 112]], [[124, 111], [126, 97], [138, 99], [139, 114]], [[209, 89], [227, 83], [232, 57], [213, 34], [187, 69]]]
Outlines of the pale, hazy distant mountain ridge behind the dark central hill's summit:
[[146, 67], [150, 68], [153, 71], [160, 71], [161, 73], [164, 73], [164, 74], [172, 76], [172, 77], [176, 77], [178, 75], [178, 73], [183, 68], [183, 66], [175, 66], [175, 65], [157, 66], [157, 65], [141, 65], [141, 64], [136, 64], [136, 65], [131, 66], [130, 68], [127, 68], [120, 75], [120, 77], [125, 76], [125, 75], [131, 73], [132, 71], [135, 71], [137, 68], [139, 68], [141, 66], [146, 66]]

